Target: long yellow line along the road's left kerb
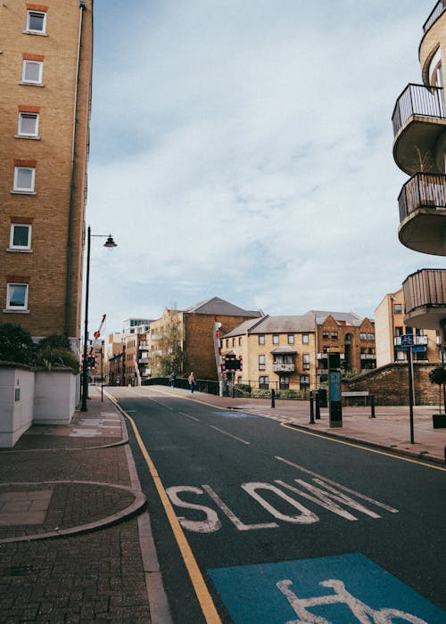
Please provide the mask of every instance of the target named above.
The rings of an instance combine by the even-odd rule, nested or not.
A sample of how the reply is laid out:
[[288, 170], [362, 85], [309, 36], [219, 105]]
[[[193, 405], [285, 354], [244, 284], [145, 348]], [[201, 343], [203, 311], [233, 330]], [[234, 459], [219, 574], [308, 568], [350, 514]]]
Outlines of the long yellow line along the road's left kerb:
[[166, 515], [168, 517], [169, 523], [170, 523], [170, 527], [173, 531], [173, 534], [177, 540], [177, 544], [179, 547], [179, 550], [181, 552], [181, 555], [183, 557], [183, 560], [186, 564], [186, 569], [189, 573], [189, 577], [192, 581], [192, 584], [194, 586], [194, 590], [195, 590], [195, 594], [198, 598], [198, 602], [200, 603], [200, 606], [202, 608], [202, 613], [204, 615], [204, 619], [206, 620], [206, 622], [209, 622], [209, 624], [221, 624], [221, 620], [219, 617], [219, 613], [217, 612], [217, 609], [215, 608], [215, 604], [212, 600], [211, 594], [209, 593], [209, 589], [206, 586], [206, 583], [204, 582], [204, 579], [202, 578], [202, 572], [200, 571], [200, 568], [198, 567], [198, 563], [196, 562], [195, 558], [194, 558], [194, 554], [192, 553], [192, 549], [189, 546], [187, 540], [186, 540], [186, 536], [184, 534], [183, 529], [181, 528], [181, 525], [178, 521], [177, 516], [175, 515], [175, 512], [173, 510], [173, 507], [169, 501], [169, 497], [166, 493], [166, 490], [164, 489], [164, 486], [162, 485], [161, 482], [161, 478], [160, 475], [158, 474], [158, 471], [156, 470], [155, 464], [153, 464], [153, 461], [151, 459], [151, 457], [149, 456], [147, 449], [145, 448], [145, 443], [143, 441], [143, 439], [141, 438], [139, 431], [136, 427], [136, 423], [133, 420], [133, 418], [131, 416], [128, 415], [128, 413], [120, 406], [120, 404], [118, 403], [118, 401], [112, 397], [108, 392], [104, 392], [108, 398], [111, 399], [112, 403], [118, 407], [118, 409], [120, 410], [121, 414], [123, 414], [128, 421], [130, 422], [130, 424], [132, 425], [133, 431], [135, 432], [135, 436], [136, 436], [136, 440], [137, 443], [141, 449], [141, 452], [145, 458], [145, 463], [147, 464], [150, 474], [153, 478], [153, 482], [155, 484], [155, 488], [157, 489], [158, 492], [158, 496], [161, 499], [161, 503], [162, 506], [164, 507], [164, 511], [166, 512]]

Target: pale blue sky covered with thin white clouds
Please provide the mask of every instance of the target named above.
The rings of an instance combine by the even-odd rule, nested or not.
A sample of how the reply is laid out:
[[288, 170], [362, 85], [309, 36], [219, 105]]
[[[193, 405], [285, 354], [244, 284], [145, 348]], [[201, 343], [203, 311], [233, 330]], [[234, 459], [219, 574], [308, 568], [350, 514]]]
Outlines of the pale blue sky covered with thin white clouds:
[[[398, 240], [392, 111], [434, 0], [95, 0], [90, 324], [219, 296], [373, 317], [442, 258]], [[94, 327], [92, 328], [93, 331]]]

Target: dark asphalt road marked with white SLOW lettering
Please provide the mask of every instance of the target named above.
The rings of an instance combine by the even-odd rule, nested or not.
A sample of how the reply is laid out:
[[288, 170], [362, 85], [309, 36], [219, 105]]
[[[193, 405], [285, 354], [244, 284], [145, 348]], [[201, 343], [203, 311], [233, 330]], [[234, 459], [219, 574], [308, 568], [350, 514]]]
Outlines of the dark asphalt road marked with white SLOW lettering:
[[446, 622], [442, 467], [168, 389], [110, 391], [176, 622]]

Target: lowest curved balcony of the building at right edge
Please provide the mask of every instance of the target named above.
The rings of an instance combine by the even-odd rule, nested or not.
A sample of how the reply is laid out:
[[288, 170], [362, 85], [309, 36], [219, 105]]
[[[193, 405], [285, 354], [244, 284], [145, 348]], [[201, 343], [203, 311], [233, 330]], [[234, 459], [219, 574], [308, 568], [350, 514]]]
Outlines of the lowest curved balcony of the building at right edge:
[[406, 316], [410, 327], [439, 329], [446, 320], [446, 270], [424, 268], [402, 284]]

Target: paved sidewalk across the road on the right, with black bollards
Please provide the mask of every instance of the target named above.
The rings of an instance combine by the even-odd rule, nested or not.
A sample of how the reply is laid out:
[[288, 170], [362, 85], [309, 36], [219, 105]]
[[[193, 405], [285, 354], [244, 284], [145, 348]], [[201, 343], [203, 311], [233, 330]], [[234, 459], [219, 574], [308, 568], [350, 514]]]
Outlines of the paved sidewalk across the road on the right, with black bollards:
[[275, 408], [269, 399], [215, 397], [211, 394], [161, 386], [144, 386], [145, 390], [159, 390], [187, 396], [223, 409], [236, 409], [249, 414], [274, 418], [293, 427], [319, 435], [343, 439], [352, 443], [368, 444], [404, 456], [427, 459], [445, 464], [446, 429], [434, 429], [432, 415], [435, 406], [414, 407], [414, 444], [410, 442], [409, 406], [376, 406], [371, 418], [369, 406], [343, 406], [343, 427], [330, 428], [327, 408], [320, 410], [320, 420], [310, 424], [310, 401], [276, 399]]

